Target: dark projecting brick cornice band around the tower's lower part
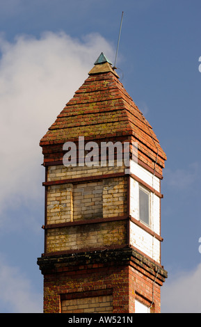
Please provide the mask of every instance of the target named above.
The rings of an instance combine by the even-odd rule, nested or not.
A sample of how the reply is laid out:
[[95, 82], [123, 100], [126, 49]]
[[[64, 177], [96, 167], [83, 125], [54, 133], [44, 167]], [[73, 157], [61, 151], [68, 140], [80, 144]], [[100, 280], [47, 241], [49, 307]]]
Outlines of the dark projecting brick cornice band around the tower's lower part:
[[150, 279], [158, 278], [158, 283], [165, 282], [168, 273], [163, 266], [145, 257], [134, 248], [96, 250], [87, 253], [68, 253], [65, 255], [45, 256], [38, 258], [42, 274], [70, 272], [82, 269], [102, 269], [104, 266], [133, 266], [141, 273], [148, 274]]

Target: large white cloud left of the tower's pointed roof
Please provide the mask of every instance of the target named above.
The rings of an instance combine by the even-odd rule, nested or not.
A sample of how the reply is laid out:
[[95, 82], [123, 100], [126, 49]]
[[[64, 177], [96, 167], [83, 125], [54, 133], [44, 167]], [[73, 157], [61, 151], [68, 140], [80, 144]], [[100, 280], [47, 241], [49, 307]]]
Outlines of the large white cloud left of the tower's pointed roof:
[[88, 77], [97, 56], [113, 48], [99, 34], [82, 40], [46, 32], [39, 39], [0, 38], [0, 209], [37, 200], [45, 171], [40, 138]]

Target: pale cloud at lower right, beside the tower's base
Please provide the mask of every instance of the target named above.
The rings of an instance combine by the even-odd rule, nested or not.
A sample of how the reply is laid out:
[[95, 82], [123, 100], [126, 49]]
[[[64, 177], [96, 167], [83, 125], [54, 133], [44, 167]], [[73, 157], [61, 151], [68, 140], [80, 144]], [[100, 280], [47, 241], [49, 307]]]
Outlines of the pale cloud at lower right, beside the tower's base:
[[161, 288], [161, 312], [201, 313], [201, 264], [189, 272], [170, 274]]

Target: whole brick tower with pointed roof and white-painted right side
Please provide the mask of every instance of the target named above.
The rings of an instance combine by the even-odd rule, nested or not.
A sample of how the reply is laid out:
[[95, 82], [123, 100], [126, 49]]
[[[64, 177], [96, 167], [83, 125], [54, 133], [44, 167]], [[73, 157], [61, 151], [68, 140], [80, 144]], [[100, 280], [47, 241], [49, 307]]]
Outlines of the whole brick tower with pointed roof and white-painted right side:
[[88, 75], [40, 141], [44, 312], [159, 313], [166, 154], [104, 54]]

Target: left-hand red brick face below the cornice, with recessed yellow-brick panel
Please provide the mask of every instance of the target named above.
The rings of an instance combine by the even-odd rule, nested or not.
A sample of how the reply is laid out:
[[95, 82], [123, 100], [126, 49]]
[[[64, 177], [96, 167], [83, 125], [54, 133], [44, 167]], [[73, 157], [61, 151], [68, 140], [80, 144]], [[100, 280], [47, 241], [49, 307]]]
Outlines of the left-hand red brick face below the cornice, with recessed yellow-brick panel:
[[[95, 310], [99, 313], [129, 312], [127, 276], [127, 267], [106, 268], [101, 264], [91, 264], [88, 268], [79, 266], [76, 271], [63, 271], [57, 276], [55, 274], [45, 276], [44, 312], [72, 312], [73, 310], [79, 310], [79, 312]], [[98, 294], [107, 289], [112, 289], [112, 294], [107, 297], [100, 295], [91, 296], [89, 299], [85, 296], [85, 293], [89, 291]], [[77, 293], [81, 292], [83, 293], [82, 298], [63, 300], [66, 294], [75, 294], [76, 297]], [[86, 311], [88, 309], [92, 311]]]

